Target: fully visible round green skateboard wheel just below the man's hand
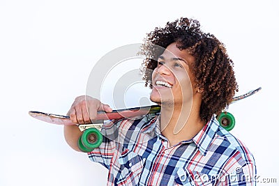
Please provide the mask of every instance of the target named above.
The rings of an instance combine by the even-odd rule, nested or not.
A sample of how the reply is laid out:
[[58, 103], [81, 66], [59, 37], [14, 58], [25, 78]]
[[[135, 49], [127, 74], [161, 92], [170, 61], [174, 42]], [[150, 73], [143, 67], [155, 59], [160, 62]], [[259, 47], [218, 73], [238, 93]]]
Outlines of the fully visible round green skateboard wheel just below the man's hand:
[[86, 148], [98, 148], [103, 142], [103, 135], [96, 128], [89, 128], [82, 134], [82, 144]]

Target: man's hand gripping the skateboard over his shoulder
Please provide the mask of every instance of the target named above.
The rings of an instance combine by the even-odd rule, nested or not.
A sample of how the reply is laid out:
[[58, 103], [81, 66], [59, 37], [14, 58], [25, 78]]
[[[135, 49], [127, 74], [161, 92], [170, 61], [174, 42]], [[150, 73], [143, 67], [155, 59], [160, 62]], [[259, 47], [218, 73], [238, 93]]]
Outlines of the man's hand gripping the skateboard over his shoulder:
[[70, 116], [73, 123], [85, 124], [95, 120], [98, 111], [111, 112], [112, 108], [108, 104], [101, 103], [100, 100], [88, 95], [81, 95], [75, 98], [67, 116]]

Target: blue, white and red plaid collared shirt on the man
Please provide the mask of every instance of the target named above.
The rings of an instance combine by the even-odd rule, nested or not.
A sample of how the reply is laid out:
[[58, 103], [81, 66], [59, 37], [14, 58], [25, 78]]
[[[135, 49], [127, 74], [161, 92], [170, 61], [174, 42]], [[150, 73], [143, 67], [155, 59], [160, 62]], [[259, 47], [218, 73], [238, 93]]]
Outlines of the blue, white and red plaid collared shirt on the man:
[[110, 121], [89, 159], [109, 169], [107, 185], [255, 185], [255, 162], [213, 116], [176, 146], [160, 132], [160, 115]]

